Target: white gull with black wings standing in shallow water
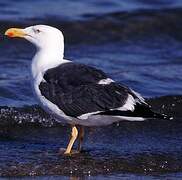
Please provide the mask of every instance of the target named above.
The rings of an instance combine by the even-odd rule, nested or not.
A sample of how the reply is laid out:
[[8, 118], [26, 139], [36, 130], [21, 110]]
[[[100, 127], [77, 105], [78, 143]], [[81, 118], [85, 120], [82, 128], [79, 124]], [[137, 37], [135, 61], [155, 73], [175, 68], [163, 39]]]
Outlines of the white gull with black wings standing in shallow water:
[[[10, 38], [24, 38], [36, 46], [31, 63], [31, 84], [40, 106], [60, 123], [72, 127], [64, 154], [72, 153], [79, 139], [81, 151], [85, 126], [106, 126], [119, 121], [165, 119], [155, 113], [145, 99], [103, 71], [64, 58], [63, 33], [51, 26], [10, 28]], [[103, 59], [104, 61], [104, 59]]]

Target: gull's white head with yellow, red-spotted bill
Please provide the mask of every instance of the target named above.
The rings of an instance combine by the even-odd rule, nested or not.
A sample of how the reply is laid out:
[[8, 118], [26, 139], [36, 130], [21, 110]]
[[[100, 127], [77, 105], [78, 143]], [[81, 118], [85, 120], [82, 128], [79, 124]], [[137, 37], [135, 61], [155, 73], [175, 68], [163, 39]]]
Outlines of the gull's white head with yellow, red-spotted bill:
[[64, 49], [64, 37], [62, 32], [47, 25], [29, 26], [25, 29], [10, 28], [5, 32], [9, 37], [25, 38], [38, 49]]

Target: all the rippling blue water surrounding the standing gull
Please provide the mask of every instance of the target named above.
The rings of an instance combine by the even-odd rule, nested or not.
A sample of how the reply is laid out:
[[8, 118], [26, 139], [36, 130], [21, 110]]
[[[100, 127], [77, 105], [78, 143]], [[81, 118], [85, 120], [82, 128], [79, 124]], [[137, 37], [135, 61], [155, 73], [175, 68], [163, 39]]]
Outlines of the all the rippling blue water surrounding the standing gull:
[[[181, 19], [181, 0], [1, 1], [0, 175], [180, 179]], [[9, 27], [34, 24], [62, 30], [65, 58], [102, 69], [175, 120], [88, 130], [83, 154], [59, 156], [69, 129], [33, 106], [29, 68], [35, 48], [3, 35]]]

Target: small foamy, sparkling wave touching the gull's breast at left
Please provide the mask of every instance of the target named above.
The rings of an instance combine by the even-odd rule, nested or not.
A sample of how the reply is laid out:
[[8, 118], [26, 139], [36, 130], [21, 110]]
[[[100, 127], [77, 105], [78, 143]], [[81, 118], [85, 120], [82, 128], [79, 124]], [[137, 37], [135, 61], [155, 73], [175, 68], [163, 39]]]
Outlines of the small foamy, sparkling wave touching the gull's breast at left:
[[44, 112], [39, 106], [0, 107], [0, 127], [14, 126], [42, 126], [52, 127], [56, 121], [49, 114]]

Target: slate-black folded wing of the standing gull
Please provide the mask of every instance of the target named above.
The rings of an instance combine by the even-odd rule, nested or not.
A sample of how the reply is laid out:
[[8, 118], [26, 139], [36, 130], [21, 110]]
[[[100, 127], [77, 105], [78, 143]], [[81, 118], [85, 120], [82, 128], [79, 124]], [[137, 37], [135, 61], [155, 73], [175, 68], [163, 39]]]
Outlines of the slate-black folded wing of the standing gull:
[[78, 117], [122, 107], [128, 98], [138, 98], [129, 88], [115, 82], [98, 84], [105, 73], [83, 64], [65, 63], [49, 69], [39, 85], [41, 94], [66, 115]]

